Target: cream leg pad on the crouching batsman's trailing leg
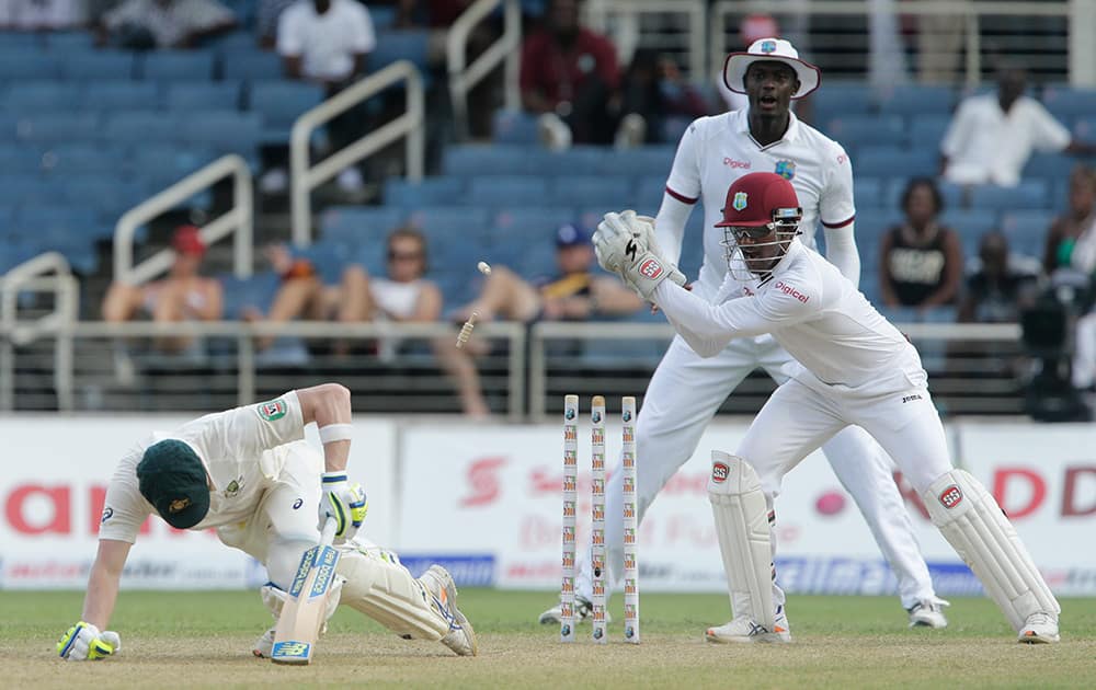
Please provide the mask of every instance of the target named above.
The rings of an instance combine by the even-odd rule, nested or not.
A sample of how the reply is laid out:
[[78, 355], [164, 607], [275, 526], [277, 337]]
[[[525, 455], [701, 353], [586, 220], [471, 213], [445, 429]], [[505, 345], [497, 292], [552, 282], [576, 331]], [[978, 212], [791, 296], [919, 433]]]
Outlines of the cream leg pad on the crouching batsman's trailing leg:
[[339, 574], [346, 578], [341, 602], [392, 632], [416, 640], [441, 640], [449, 632], [430, 594], [402, 565], [352, 550], [339, 560]]

